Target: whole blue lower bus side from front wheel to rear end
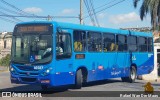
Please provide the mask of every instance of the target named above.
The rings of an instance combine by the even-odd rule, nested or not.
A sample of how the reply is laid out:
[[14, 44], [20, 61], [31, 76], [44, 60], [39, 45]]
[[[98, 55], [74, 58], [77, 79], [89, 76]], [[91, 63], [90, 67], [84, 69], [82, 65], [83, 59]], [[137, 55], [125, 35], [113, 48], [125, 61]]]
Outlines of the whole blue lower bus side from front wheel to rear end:
[[[131, 63], [137, 65], [137, 75], [148, 74], [153, 70], [152, 53], [86, 53], [85, 56], [85, 59], [75, 60], [74, 66], [88, 69], [88, 81], [127, 77]], [[103, 66], [103, 69], [99, 69], [99, 66]]]

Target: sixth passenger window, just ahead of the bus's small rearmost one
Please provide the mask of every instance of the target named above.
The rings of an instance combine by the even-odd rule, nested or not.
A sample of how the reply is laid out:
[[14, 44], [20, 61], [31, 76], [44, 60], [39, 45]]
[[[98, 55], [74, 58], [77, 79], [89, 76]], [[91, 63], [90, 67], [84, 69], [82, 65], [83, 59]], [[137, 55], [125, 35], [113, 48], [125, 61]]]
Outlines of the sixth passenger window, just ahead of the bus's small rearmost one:
[[147, 51], [147, 38], [139, 37], [138, 38], [138, 45], [139, 45], [140, 52], [146, 52]]

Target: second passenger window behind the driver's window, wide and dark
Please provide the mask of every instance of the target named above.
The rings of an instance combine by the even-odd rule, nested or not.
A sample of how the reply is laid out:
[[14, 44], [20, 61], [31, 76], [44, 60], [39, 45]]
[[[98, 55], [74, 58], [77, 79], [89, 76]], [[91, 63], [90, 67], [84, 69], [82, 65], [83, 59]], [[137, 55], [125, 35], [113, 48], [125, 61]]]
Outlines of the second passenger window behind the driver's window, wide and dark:
[[101, 33], [88, 32], [88, 51], [102, 52], [102, 36]]

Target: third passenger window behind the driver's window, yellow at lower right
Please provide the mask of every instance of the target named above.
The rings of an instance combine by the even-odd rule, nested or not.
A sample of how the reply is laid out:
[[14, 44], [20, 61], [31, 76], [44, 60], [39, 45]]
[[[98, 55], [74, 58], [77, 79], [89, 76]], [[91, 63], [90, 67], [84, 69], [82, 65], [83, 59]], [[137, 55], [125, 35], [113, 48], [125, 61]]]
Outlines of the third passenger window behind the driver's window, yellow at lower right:
[[103, 34], [103, 51], [104, 52], [116, 51], [114, 34], [108, 34], [108, 33]]

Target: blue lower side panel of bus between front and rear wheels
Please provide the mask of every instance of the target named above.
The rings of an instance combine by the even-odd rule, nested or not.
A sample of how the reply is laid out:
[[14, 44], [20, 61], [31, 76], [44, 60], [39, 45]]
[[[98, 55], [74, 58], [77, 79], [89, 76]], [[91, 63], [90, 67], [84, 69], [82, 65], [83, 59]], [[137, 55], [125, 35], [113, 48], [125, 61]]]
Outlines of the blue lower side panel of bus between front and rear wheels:
[[87, 68], [88, 81], [125, 77], [129, 75], [129, 53], [85, 53], [85, 59], [75, 60], [74, 66]]

